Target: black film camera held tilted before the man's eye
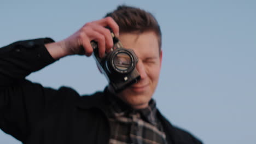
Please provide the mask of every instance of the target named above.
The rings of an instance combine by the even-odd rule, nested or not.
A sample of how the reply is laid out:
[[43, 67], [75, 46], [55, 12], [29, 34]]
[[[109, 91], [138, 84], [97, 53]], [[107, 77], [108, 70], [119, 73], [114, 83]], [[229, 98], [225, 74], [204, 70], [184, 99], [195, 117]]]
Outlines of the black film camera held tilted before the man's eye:
[[114, 46], [109, 53], [100, 58], [96, 41], [91, 41], [94, 49], [94, 58], [102, 73], [107, 77], [110, 86], [115, 92], [136, 83], [141, 76], [136, 69], [138, 58], [132, 49], [125, 49], [119, 39], [111, 32]]

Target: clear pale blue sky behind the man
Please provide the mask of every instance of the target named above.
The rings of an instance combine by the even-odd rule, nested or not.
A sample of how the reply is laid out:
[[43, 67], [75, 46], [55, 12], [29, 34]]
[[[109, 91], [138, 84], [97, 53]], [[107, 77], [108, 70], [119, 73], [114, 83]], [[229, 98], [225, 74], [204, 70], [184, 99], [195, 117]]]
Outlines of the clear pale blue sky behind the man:
[[[16, 40], [62, 40], [119, 4], [155, 15], [163, 60], [154, 94], [173, 125], [203, 142], [256, 143], [256, 1], [13, 1], [0, 2], [0, 47]], [[27, 77], [80, 94], [107, 80], [93, 58], [69, 56]], [[20, 143], [0, 130], [0, 143]]]

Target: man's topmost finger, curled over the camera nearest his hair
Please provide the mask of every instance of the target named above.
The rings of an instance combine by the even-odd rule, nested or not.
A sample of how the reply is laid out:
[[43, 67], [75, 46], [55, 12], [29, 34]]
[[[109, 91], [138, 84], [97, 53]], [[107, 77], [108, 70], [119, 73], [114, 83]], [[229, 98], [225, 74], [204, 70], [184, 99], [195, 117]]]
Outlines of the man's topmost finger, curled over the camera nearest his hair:
[[104, 19], [95, 21], [96, 23], [98, 23], [98, 25], [101, 25], [103, 27], [110, 27], [113, 31], [113, 33], [115, 34], [115, 36], [119, 37], [119, 26], [117, 24], [117, 22], [115, 22], [112, 17], [105, 17]]

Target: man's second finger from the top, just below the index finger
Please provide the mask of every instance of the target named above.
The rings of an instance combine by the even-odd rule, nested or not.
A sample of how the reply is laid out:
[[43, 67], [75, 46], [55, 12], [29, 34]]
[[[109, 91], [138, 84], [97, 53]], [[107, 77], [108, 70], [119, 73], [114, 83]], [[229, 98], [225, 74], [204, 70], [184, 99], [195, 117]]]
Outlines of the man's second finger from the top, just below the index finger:
[[104, 28], [104, 27], [102, 27], [100, 25], [95, 25], [94, 27], [92, 27], [92, 29], [94, 29], [98, 33], [101, 33], [102, 35], [104, 35], [105, 43], [106, 43], [106, 51], [109, 52], [110, 49], [114, 45], [113, 44], [113, 38], [112, 38], [112, 35], [110, 34], [109, 29]]

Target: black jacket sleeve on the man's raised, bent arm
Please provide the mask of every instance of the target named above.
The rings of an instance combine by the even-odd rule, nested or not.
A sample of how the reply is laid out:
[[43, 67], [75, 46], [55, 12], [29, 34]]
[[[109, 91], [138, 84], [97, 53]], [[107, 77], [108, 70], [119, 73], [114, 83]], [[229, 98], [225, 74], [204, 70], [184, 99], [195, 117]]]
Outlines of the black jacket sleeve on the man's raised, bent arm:
[[25, 79], [55, 61], [44, 46], [51, 42], [49, 38], [25, 40], [0, 48], [0, 128], [20, 141], [42, 118], [45, 95], [56, 92]]

